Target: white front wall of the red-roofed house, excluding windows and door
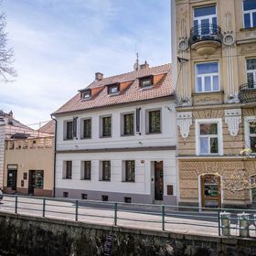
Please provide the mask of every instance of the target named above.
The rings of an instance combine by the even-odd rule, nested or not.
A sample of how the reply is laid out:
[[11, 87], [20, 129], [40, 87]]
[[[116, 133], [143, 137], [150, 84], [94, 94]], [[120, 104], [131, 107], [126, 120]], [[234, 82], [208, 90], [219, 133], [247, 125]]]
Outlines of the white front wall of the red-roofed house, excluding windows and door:
[[[135, 105], [136, 104], [136, 105]], [[176, 204], [176, 113], [172, 101], [141, 101], [109, 108], [61, 114], [57, 119], [56, 196], [153, 203], [155, 201], [155, 162], [163, 163], [164, 202]], [[123, 114], [140, 112], [140, 134], [122, 135]], [[147, 133], [148, 112], [161, 111], [161, 133]], [[101, 117], [112, 116], [112, 136], [101, 138]], [[65, 123], [78, 117], [77, 138], [65, 140]], [[91, 139], [81, 139], [82, 120], [91, 118]], [[135, 120], [134, 120], [135, 125]], [[135, 127], [134, 127], [135, 130]], [[125, 160], [135, 163], [134, 182], [123, 181]], [[63, 178], [65, 162], [72, 161], [72, 177]], [[82, 161], [91, 161], [91, 180], [81, 179]], [[101, 161], [111, 161], [111, 181], [101, 180]], [[172, 195], [167, 195], [172, 186]], [[170, 193], [169, 193], [170, 194]]]

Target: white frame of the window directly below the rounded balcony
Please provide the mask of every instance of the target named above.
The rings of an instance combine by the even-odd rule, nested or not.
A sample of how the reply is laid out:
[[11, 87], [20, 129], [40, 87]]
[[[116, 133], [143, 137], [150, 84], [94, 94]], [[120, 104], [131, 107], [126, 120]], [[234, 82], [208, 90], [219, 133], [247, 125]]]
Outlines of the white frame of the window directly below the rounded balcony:
[[[208, 64], [208, 63], [218, 63], [218, 72], [197, 75], [197, 65]], [[196, 92], [197, 93], [213, 92], [213, 77], [214, 76], [218, 76], [218, 82], [219, 82], [219, 61], [197, 62], [197, 63], [195, 63]], [[210, 77], [210, 89], [211, 89], [210, 91], [205, 90], [205, 77]], [[202, 80], [202, 91], [198, 91], [197, 78], [201, 78], [201, 80]], [[219, 90], [218, 91], [220, 91], [220, 83], [219, 83]]]

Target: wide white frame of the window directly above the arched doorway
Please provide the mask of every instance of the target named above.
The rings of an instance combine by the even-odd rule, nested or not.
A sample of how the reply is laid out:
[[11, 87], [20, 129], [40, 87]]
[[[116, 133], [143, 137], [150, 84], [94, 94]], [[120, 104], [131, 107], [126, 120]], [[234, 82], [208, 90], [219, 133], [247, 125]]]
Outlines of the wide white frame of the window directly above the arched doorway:
[[[199, 135], [200, 135], [200, 124], [201, 123], [217, 123], [217, 125], [218, 125], [219, 153], [217, 153], [217, 154], [208, 154], [208, 155], [223, 155], [223, 133], [222, 133], [222, 119], [221, 118], [197, 119], [195, 121], [195, 126], [196, 126], [196, 155], [205, 155], [205, 154], [200, 154], [200, 136]], [[208, 155], [205, 155], [205, 156], [208, 156]]]

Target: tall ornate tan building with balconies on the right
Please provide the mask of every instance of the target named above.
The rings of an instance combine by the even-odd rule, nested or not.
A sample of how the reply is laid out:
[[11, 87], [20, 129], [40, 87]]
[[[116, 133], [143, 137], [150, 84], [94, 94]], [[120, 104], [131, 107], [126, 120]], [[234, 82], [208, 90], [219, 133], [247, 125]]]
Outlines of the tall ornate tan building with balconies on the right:
[[256, 200], [256, 1], [172, 0], [172, 41], [179, 204], [249, 206]]

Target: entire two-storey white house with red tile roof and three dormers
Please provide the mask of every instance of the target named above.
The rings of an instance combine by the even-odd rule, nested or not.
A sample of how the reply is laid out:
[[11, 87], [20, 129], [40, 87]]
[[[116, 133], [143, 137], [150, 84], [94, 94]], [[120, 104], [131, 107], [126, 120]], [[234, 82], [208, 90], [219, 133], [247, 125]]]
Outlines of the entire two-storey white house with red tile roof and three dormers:
[[170, 65], [95, 80], [57, 120], [56, 197], [176, 204]]

